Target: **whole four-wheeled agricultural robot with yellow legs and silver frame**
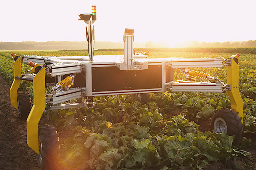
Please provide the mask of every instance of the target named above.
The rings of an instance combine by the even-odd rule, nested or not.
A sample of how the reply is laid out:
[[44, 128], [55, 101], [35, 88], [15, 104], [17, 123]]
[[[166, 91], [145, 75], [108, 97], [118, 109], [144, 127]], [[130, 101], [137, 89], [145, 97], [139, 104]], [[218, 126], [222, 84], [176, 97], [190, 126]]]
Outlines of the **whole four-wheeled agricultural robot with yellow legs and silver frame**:
[[[11, 54], [14, 59], [11, 104], [18, 109], [19, 117], [26, 119], [27, 143], [36, 152], [40, 168], [54, 167], [55, 157], [59, 155], [56, 128], [52, 125], [38, 125], [44, 111], [92, 108], [94, 96], [137, 94], [142, 99], [148, 98], [149, 93], [168, 90], [227, 92], [232, 109], [216, 110], [210, 126], [216, 133], [235, 135], [234, 142], [240, 142], [243, 134], [243, 102], [238, 91], [239, 54], [228, 59], [149, 59], [148, 52], [134, 51], [134, 29], [125, 28], [124, 55], [94, 56], [96, 6], [92, 6], [92, 14], [80, 14], [79, 17], [79, 20], [87, 24], [88, 56], [43, 57]], [[21, 62], [31, 66], [25, 74], [21, 74]], [[226, 84], [209, 74], [190, 70], [224, 66], [227, 67]], [[174, 72], [177, 69], [184, 73], [188, 81], [174, 80]], [[196, 82], [196, 78], [206, 81]], [[21, 81], [33, 82], [34, 104], [31, 104], [28, 92], [17, 92]], [[73, 99], [81, 99], [81, 102], [67, 104], [67, 101]]]

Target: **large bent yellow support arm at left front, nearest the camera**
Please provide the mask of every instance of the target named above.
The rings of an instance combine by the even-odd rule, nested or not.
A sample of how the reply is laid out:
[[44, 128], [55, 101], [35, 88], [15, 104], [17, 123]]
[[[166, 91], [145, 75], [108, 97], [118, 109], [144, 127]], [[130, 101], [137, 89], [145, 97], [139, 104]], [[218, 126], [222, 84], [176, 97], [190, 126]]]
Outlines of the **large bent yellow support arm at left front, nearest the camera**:
[[28, 146], [39, 154], [38, 123], [45, 109], [45, 69], [33, 76], [34, 105], [27, 119]]

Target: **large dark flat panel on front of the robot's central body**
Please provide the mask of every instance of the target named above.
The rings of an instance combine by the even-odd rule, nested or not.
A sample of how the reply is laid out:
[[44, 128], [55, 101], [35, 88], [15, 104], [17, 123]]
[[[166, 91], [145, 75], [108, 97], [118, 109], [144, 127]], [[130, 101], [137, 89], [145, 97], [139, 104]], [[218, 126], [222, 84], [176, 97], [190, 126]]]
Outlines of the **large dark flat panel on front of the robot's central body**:
[[119, 70], [116, 66], [92, 68], [92, 92], [162, 87], [162, 65], [146, 70]]

